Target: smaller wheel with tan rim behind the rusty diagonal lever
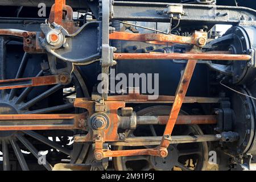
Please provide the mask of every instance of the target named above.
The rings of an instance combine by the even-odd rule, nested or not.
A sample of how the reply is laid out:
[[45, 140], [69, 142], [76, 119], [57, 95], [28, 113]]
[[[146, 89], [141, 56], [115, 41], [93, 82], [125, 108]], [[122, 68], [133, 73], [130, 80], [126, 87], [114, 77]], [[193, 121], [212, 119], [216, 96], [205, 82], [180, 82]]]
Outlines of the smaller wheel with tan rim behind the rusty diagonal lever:
[[[138, 115], [168, 115], [170, 112], [169, 106], [151, 106], [138, 111]], [[184, 111], [180, 114], [185, 115]], [[139, 126], [135, 130], [129, 130], [126, 136], [129, 137], [148, 137], [162, 136], [164, 126], [149, 125]], [[176, 125], [173, 135], [202, 135], [200, 127], [197, 125]], [[150, 148], [155, 146], [144, 146]], [[117, 146], [114, 150], [129, 150], [135, 147]], [[191, 171], [205, 170], [208, 164], [208, 146], [207, 142], [200, 143], [181, 143], [170, 144], [167, 148], [168, 156], [160, 158], [159, 156], [122, 156], [113, 159], [114, 168], [120, 171], [127, 170], [164, 170], [164, 171]]]

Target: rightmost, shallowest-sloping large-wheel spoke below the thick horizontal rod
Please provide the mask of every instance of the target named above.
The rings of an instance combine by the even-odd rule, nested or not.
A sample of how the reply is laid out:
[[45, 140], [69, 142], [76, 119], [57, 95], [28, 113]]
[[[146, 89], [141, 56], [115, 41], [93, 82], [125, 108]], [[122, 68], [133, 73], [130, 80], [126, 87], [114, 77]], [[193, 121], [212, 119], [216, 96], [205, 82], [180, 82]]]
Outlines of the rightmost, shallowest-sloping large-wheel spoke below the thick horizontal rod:
[[30, 135], [30, 137], [33, 137], [37, 140], [39, 140], [40, 142], [43, 142], [44, 144], [47, 144], [48, 146], [51, 146], [53, 148], [55, 148], [56, 150], [59, 150], [60, 152], [63, 152], [66, 155], [71, 156], [71, 151], [60, 146], [59, 144], [52, 142], [51, 140], [43, 137], [42, 135], [39, 135], [38, 133], [35, 133], [34, 131], [23, 131], [23, 133], [26, 133], [27, 135]]

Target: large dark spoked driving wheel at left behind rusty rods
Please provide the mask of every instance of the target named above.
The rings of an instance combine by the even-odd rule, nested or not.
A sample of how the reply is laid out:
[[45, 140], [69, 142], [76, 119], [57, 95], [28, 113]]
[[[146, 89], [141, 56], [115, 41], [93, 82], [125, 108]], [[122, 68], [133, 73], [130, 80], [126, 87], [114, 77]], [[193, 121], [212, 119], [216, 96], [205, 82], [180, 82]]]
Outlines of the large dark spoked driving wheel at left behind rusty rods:
[[[0, 37], [0, 79], [35, 77], [47, 75], [40, 64], [46, 55], [29, 55], [23, 52], [22, 40], [16, 37]], [[23, 55], [23, 56], [22, 56]], [[64, 94], [64, 88], [73, 88]], [[71, 84], [37, 86], [0, 91], [0, 114], [48, 114], [80, 113], [75, 109], [70, 95], [87, 97], [88, 91], [79, 71], [75, 68]], [[88, 146], [73, 142], [73, 134], [84, 131], [37, 130], [0, 131], [0, 169], [51, 170], [56, 163], [82, 163]], [[48, 152], [46, 160], [40, 151]], [[2, 156], [1, 156], [2, 155]], [[40, 158], [41, 157], [41, 158]], [[42, 160], [42, 165], [39, 165]]]

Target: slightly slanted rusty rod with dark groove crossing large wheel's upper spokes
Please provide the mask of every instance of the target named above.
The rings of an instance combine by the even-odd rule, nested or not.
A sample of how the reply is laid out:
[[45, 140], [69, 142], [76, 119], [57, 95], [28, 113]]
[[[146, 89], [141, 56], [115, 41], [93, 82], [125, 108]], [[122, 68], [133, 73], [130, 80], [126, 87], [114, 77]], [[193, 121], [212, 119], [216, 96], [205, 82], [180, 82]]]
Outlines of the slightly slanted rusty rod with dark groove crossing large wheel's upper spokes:
[[59, 84], [59, 75], [0, 80], [0, 90]]

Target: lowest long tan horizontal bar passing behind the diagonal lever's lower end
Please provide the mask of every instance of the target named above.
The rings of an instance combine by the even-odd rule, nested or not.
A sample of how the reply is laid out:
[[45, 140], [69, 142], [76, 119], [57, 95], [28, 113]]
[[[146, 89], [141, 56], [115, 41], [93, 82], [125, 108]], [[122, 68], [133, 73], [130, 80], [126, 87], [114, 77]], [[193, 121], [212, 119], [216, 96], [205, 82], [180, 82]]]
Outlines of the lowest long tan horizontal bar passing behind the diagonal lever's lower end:
[[[162, 137], [129, 137], [123, 142], [110, 142], [113, 146], [156, 146], [159, 145]], [[211, 142], [220, 140], [216, 135], [180, 135], [172, 136], [170, 144], [176, 143], [193, 143], [193, 142]]]

